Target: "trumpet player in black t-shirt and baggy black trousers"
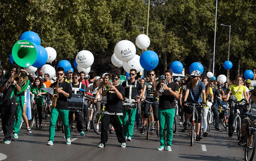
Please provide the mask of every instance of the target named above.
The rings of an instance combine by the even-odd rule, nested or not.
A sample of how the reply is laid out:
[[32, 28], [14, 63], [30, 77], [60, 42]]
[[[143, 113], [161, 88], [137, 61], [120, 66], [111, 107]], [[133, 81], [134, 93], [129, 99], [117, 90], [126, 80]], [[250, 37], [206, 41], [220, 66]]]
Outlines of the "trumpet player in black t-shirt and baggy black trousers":
[[102, 93], [102, 96], [107, 94], [106, 109], [101, 119], [101, 142], [98, 145], [99, 148], [104, 148], [108, 141], [108, 127], [111, 123], [115, 128], [115, 134], [118, 142], [121, 143], [121, 147], [126, 147], [126, 142], [123, 134], [121, 116], [122, 113], [122, 99], [124, 97], [124, 87], [120, 86], [120, 74], [113, 73], [113, 83], [107, 93]]

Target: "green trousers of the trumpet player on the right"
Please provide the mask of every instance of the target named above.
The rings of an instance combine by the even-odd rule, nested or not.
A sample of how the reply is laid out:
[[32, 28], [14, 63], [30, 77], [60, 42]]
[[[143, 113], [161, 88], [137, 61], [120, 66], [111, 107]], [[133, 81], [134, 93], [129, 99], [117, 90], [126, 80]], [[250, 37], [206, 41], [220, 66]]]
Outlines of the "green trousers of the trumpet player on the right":
[[[173, 109], [158, 108], [159, 133], [160, 133], [161, 146], [165, 146], [166, 144], [167, 146], [172, 146], [174, 116], [175, 116], [175, 108]], [[165, 131], [164, 131], [165, 124], [167, 125], [166, 144], [165, 144]]]

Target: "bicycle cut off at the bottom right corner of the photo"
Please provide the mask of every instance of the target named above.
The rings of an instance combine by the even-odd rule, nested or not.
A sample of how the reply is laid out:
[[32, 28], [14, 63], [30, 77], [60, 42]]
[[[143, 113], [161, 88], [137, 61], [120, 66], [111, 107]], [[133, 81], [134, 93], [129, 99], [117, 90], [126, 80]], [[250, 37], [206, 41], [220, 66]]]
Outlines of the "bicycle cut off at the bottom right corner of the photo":
[[256, 149], [256, 115], [249, 115], [251, 118], [250, 127], [246, 130], [245, 143], [243, 145], [245, 161], [252, 161]]

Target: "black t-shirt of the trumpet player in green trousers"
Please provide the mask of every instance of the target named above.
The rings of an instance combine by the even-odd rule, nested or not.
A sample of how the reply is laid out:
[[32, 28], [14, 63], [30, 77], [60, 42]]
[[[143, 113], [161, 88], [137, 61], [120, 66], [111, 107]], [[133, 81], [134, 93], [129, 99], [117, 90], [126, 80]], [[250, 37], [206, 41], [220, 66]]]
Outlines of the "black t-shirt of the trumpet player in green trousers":
[[[156, 89], [159, 89], [160, 83], [157, 84]], [[173, 91], [179, 91], [179, 85], [175, 82], [171, 82], [167, 85], [171, 87]], [[159, 108], [171, 109], [175, 108], [175, 97], [168, 92], [168, 90], [163, 91], [162, 96], [159, 97]]]

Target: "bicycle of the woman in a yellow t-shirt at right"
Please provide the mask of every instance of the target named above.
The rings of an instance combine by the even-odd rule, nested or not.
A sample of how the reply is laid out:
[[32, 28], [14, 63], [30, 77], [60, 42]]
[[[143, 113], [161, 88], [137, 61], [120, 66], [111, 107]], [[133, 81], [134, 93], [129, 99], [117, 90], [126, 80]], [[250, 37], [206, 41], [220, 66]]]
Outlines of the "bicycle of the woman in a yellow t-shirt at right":
[[[236, 101], [236, 100], [233, 100], [233, 99], [229, 99], [229, 102], [234, 102], [235, 103], [235, 111], [236, 111], [236, 114], [235, 114], [235, 119], [234, 119], [234, 122], [233, 122], [233, 130], [234, 132], [237, 132], [237, 139], [240, 140], [240, 137], [241, 137], [241, 117], [240, 117], [240, 114], [241, 114], [241, 109], [244, 109], [244, 106], [247, 105], [247, 104], [243, 104], [243, 105], [240, 105], [240, 103], [242, 103], [243, 101], [246, 101], [246, 99], [241, 99], [240, 101]], [[231, 110], [230, 110], [231, 112]]]

